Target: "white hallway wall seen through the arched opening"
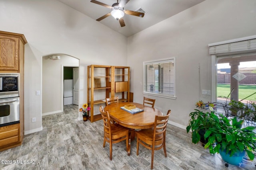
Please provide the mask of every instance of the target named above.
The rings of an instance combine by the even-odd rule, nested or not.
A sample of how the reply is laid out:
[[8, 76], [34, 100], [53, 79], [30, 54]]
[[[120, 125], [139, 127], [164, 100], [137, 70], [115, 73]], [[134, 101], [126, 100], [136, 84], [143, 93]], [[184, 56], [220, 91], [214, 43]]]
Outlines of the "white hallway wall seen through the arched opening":
[[[42, 114], [58, 113], [62, 108], [62, 65], [79, 66], [79, 60], [64, 54], [58, 60], [42, 57]], [[38, 119], [38, 118], [37, 118]]]

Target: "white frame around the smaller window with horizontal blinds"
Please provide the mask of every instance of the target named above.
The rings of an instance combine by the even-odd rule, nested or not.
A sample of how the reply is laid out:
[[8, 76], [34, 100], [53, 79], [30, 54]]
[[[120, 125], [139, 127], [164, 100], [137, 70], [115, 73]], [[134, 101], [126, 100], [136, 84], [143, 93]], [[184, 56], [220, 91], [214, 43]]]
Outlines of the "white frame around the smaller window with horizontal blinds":
[[[148, 64], [156, 64], [156, 63], [166, 63], [168, 61], [171, 61], [173, 62], [174, 64], [174, 78], [170, 80], [173, 80], [174, 82], [174, 94], [173, 95], [170, 95], [170, 94], [161, 94], [161, 93], [152, 93], [152, 92], [146, 92], [145, 91], [145, 65], [148, 65]], [[150, 96], [157, 96], [157, 97], [161, 97], [161, 98], [169, 98], [169, 99], [176, 99], [176, 57], [170, 57], [170, 58], [166, 58], [166, 59], [156, 59], [156, 60], [151, 60], [151, 61], [144, 61], [143, 62], [143, 94], [146, 94], [146, 95], [150, 95]]]

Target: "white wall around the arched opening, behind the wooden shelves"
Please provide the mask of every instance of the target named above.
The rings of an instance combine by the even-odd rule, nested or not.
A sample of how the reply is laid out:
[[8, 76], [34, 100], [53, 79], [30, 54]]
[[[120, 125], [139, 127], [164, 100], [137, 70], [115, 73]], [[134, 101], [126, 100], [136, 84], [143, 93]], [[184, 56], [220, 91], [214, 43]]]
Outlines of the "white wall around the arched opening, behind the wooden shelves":
[[[57, 0], [1, 0], [0, 30], [24, 34], [24, 129], [42, 129], [42, 56], [80, 59], [80, 105], [86, 100], [86, 66], [126, 65], [127, 38]], [[116, 50], [118, 49], [118, 51]]]

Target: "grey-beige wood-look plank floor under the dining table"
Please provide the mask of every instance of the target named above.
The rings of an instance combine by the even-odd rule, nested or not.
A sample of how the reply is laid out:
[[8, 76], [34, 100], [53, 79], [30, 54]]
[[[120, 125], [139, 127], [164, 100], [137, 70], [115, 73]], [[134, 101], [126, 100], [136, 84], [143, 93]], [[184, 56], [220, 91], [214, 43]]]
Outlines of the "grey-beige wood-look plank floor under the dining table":
[[[171, 116], [170, 116], [171, 119]], [[136, 140], [128, 156], [125, 141], [103, 148], [102, 120], [78, 121], [78, 106], [64, 106], [64, 112], [42, 117], [43, 130], [24, 136], [21, 146], [0, 152], [0, 160], [31, 160], [35, 164], [0, 164], [1, 170], [149, 170], [151, 151]], [[209, 154], [200, 144], [192, 144], [191, 134], [167, 125], [167, 158], [163, 150], [154, 154], [155, 170], [256, 170], [254, 165], [226, 167], [217, 154]]]

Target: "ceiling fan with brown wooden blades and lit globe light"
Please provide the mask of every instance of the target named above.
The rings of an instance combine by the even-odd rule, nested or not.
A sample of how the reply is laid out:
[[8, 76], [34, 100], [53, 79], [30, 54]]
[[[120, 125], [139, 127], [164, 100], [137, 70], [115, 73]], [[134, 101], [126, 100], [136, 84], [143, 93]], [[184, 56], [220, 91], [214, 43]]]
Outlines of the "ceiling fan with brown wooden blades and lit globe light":
[[96, 1], [96, 0], [91, 0], [92, 3], [102, 5], [102, 6], [105, 6], [106, 8], [112, 9], [112, 11], [110, 13], [98, 18], [96, 21], [101, 21], [101, 20], [103, 20], [103, 19], [105, 19], [105, 18], [107, 18], [108, 16], [111, 15], [116, 20], [119, 21], [121, 27], [124, 27], [125, 26], [124, 19], [123, 19], [124, 14], [132, 15], [132, 16], [138, 16], [138, 17], [144, 17], [144, 13], [142, 13], [142, 12], [124, 10], [124, 6], [129, 1], [130, 0], [121, 0], [120, 3], [118, 3], [118, 0], [117, 0], [117, 3], [112, 4], [112, 6], [109, 6], [109, 5], [104, 4], [102, 2], [99, 2], [99, 1]]

